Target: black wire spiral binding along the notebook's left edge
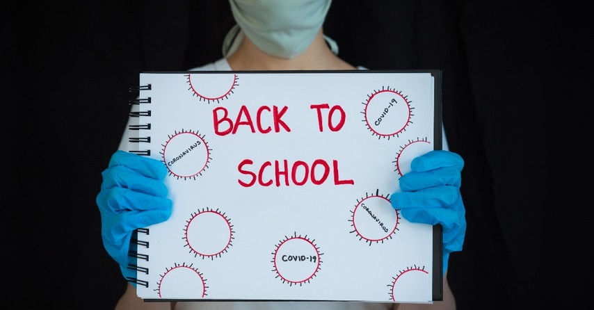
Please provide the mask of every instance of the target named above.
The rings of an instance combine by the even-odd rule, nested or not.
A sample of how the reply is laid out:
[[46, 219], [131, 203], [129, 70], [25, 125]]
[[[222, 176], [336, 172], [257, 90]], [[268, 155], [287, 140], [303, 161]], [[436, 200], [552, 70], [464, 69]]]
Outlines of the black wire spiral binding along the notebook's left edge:
[[[139, 85], [137, 87], [133, 87], [133, 88], [129, 88], [129, 92], [139, 92], [141, 90], [151, 90], [152, 89], [152, 85], [151, 84], [147, 84], [147, 85]], [[151, 103], [151, 97], [137, 97], [136, 99], [130, 100], [129, 104], [130, 105], [145, 105], [145, 104], [150, 104]], [[141, 111], [131, 111], [129, 113], [129, 117], [141, 117], [141, 116], [146, 116], [146, 117], [150, 117], [151, 116], [151, 111], [150, 110], [141, 110]], [[150, 130], [151, 129], [151, 124], [138, 124], [138, 125], [129, 125], [128, 127], [129, 130], [134, 130], [134, 131], [143, 131], [143, 130]], [[139, 135], [140, 136], [140, 135]], [[131, 137], [128, 139], [129, 142], [131, 143], [150, 143], [150, 136], [141, 136], [141, 137]], [[145, 149], [145, 150], [130, 150], [129, 152], [134, 153], [134, 154], [139, 154], [142, 156], [150, 156], [150, 149]], [[149, 268], [143, 267], [141, 266], [141, 261], [148, 261], [149, 256], [147, 254], [141, 254], [138, 252], [138, 248], [142, 247], [147, 249], [149, 247], [149, 242], [145, 241], [145, 240], [140, 240], [140, 238], [138, 238], [138, 235], [148, 235], [150, 234], [150, 229], [147, 228], [138, 228], [134, 231], [134, 235], [132, 236], [131, 240], [130, 240], [130, 250], [128, 252], [128, 256], [133, 258], [134, 263], [129, 263], [128, 264], [128, 269], [131, 270], [136, 270], [137, 275], [140, 273], [143, 273], [145, 275], [149, 274]], [[141, 286], [145, 286], [146, 288], [148, 288], [149, 283], [147, 281], [138, 279], [138, 277], [127, 277], [127, 280], [131, 283]]]

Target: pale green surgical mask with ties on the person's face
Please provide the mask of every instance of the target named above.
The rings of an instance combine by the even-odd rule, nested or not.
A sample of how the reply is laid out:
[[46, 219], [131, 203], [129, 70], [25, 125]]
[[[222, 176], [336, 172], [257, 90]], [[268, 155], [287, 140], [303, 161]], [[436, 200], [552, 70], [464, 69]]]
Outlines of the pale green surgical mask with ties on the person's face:
[[[223, 56], [239, 47], [243, 35], [266, 54], [294, 58], [314, 41], [332, 0], [230, 0], [237, 22], [223, 42]], [[324, 36], [338, 53], [337, 44]]]

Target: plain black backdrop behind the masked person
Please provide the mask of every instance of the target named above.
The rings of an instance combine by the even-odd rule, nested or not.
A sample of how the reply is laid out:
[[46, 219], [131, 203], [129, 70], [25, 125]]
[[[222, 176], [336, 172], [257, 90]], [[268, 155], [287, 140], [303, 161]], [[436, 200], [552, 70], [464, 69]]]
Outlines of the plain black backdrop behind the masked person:
[[[102, 245], [95, 196], [136, 96], [128, 88], [139, 72], [220, 58], [228, 3], [4, 6], [2, 295], [113, 309], [125, 282]], [[449, 263], [459, 309], [589, 297], [579, 220], [591, 208], [590, 19], [542, 1], [332, 3], [324, 28], [348, 63], [443, 72], [449, 146], [465, 159], [467, 235]]]

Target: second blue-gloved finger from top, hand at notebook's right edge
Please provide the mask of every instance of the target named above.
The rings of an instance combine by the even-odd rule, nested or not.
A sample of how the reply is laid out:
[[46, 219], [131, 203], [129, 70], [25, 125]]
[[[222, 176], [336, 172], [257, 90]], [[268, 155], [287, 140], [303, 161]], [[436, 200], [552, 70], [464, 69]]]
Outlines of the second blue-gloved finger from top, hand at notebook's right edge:
[[451, 185], [460, 188], [462, 177], [460, 170], [454, 167], [444, 167], [426, 172], [408, 172], [400, 180], [403, 191], [422, 190], [434, 186]]

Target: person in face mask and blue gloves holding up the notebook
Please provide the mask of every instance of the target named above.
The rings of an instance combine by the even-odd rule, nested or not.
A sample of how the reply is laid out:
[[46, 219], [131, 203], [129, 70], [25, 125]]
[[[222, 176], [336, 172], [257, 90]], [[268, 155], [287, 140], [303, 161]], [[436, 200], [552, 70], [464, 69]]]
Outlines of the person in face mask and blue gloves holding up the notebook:
[[[223, 42], [223, 58], [191, 70], [364, 70], [337, 56], [337, 44], [323, 34], [331, 0], [230, 0], [236, 21]], [[130, 120], [134, 122], [134, 120]], [[115, 309], [455, 309], [447, 283], [451, 252], [462, 250], [465, 208], [460, 195], [464, 161], [458, 154], [435, 150], [418, 156], [412, 171], [399, 180], [402, 191], [392, 194], [395, 208], [410, 222], [443, 227], [444, 298], [433, 304], [365, 302], [143, 302], [136, 296], [136, 272], [128, 268], [134, 230], [168, 219], [172, 202], [160, 161], [125, 152], [127, 132], [109, 166], [102, 172], [97, 194], [102, 238], [107, 252], [129, 280]], [[447, 145], [447, 143], [444, 143]]]

